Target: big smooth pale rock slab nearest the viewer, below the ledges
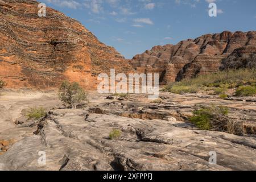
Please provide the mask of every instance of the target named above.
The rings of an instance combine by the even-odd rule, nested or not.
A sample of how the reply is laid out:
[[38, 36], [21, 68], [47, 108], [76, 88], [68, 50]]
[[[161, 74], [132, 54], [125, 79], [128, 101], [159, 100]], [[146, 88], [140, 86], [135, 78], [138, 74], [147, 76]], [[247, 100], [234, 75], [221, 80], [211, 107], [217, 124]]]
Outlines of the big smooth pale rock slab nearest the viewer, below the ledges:
[[[82, 109], [52, 110], [38, 135], [0, 156], [9, 170], [256, 170], [256, 139], [185, 129], [177, 121], [142, 120]], [[113, 129], [121, 137], [109, 139]], [[26, 147], [25, 147], [26, 146]], [[39, 151], [46, 164], [38, 163]], [[217, 164], [209, 164], [209, 152]]]

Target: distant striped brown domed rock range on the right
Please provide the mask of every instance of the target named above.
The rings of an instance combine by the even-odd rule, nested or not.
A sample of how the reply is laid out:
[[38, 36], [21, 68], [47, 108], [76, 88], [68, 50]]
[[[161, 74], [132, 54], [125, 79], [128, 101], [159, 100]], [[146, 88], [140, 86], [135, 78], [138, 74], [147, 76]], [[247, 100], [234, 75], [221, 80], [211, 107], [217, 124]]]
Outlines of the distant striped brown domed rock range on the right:
[[222, 59], [242, 47], [255, 53], [256, 31], [224, 31], [184, 40], [175, 46], [155, 46], [134, 56], [130, 63], [138, 72], [159, 73], [160, 81], [173, 82], [218, 71]]

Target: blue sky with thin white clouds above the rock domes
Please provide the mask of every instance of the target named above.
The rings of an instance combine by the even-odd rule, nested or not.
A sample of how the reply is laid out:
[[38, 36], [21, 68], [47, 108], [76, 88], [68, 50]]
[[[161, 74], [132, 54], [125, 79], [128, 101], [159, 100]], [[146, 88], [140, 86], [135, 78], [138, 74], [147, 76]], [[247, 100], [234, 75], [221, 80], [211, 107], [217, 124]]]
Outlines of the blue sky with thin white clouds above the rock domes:
[[[40, 0], [39, 0], [40, 1]], [[127, 59], [203, 34], [256, 30], [255, 0], [41, 0], [79, 20]], [[208, 15], [210, 2], [217, 17]]]

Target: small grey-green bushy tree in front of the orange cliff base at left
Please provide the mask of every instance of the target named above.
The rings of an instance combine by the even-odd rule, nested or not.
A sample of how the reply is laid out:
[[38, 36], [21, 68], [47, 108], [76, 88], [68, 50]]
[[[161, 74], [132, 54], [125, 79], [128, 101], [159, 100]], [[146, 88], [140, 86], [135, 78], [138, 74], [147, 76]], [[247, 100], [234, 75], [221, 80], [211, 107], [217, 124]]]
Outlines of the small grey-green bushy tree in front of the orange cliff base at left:
[[76, 109], [82, 101], [85, 101], [87, 93], [81, 88], [77, 82], [64, 81], [60, 85], [59, 98], [65, 104], [71, 105], [73, 109]]

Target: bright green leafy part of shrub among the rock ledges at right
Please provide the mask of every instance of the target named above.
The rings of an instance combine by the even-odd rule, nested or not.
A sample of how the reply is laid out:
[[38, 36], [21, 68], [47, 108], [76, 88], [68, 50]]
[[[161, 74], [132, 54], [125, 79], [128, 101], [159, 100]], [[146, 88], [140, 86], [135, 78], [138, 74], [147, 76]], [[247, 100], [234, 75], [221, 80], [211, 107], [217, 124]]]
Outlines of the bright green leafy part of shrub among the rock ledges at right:
[[217, 115], [228, 115], [228, 107], [210, 106], [193, 111], [193, 116], [189, 121], [199, 127], [201, 130], [210, 130], [213, 128], [213, 120]]

